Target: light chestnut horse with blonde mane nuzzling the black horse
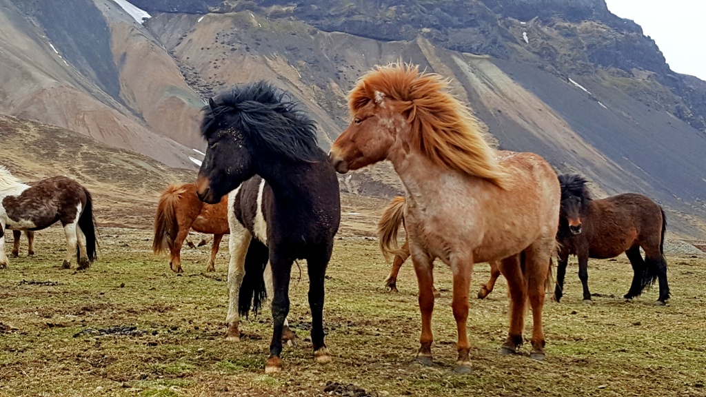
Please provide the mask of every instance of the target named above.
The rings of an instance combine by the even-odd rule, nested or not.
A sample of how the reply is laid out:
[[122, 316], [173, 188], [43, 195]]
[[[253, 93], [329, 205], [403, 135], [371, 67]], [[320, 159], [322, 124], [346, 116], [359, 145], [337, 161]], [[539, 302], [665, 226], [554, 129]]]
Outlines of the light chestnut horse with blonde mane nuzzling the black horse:
[[479, 122], [448, 93], [448, 83], [418, 66], [376, 66], [348, 95], [352, 123], [331, 146], [340, 173], [390, 160], [405, 185], [405, 225], [419, 284], [417, 360], [431, 365], [433, 261], [453, 274], [457, 325], [455, 371], [470, 372], [466, 331], [473, 263], [501, 261], [510, 290], [510, 331], [501, 352], [522, 344], [529, 297], [530, 357], [544, 359], [542, 309], [549, 260], [556, 250], [556, 173], [534, 153], [492, 148]]

